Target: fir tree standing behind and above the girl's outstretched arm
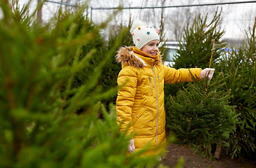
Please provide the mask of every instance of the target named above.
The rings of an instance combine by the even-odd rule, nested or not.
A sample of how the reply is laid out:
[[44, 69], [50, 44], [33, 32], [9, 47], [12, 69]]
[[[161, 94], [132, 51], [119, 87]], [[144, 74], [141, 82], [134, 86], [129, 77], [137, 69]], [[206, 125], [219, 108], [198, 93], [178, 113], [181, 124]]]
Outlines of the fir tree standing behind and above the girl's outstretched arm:
[[[224, 35], [225, 31], [219, 27], [221, 23], [221, 11], [215, 13], [215, 17], [210, 24], [206, 25], [207, 15], [203, 19], [201, 15], [197, 15], [193, 25], [187, 25], [184, 30], [184, 36], [179, 41], [179, 49], [177, 55], [174, 55], [174, 68], [205, 68], [209, 66], [211, 57], [212, 41], [221, 43], [219, 40]], [[205, 30], [205, 28], [207, 28]], [[213, 55], [213, 60], [217, 60], [221, 51], [217, 50]]]

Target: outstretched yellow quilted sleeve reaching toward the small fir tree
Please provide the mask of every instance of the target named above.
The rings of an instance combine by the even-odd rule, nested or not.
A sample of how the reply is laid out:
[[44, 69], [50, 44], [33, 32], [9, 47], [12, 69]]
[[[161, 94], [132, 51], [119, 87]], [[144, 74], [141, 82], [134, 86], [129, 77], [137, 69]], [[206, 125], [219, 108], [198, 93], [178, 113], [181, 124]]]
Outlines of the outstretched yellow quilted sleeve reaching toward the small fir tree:
[[196, 78], [196, 76], [200, 78], [200, 68], [191, 68], [191, 69], [174, 69], [168, 66], [164, 66], [164, 79], [165, 83], [181, 83], [181, 82], [192, 82], [192, 75]]

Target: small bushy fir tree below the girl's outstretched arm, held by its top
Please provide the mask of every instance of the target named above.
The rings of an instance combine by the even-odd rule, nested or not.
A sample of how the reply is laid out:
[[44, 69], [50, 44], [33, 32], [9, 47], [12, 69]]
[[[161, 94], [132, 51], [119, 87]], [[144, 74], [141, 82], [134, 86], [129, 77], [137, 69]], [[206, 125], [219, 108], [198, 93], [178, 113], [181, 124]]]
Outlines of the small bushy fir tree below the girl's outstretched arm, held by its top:
[[167, 127], [178, 138], [177, 143], [211, 160], [215, 159], [212, 146], [229, 146], [229, 134], [238, 123], [234, 107], [228, 102], [230, 90], [217, 92], [224, 84], [222, 80], [194, 81], [177, 97], [170, 95], [171, 110], [167, 113]]

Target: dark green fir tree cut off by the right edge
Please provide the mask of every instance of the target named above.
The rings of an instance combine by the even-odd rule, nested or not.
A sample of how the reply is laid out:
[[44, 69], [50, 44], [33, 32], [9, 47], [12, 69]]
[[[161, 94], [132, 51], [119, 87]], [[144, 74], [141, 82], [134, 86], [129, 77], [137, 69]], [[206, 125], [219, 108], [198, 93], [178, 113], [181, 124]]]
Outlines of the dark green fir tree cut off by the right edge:
[[255, 157], [252, 153], [256, 149], [256, 20], [246, 36], [245, 47], [232, 48], [222, 57], [220, 66], [216, 66], [217, 71], [224, 72], [223, 78], [230, 74], [222, 90], [231, 89], [233, 96], [229, 99], [229, 105], [236, 106], [236, 113], [241, 114], [241, 123], [236, 125], [236, 132], [230, 139], [232, 158]]

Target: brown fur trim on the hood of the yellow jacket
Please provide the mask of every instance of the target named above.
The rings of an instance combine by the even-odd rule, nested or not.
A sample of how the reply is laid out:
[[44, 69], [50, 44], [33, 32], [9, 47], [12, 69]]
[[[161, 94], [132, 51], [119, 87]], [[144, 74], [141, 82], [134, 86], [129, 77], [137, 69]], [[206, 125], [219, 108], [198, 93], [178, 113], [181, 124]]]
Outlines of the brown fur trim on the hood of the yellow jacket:
[[[159, 62], [162, 62], [162, 57], [160, 53], [159, 57]], [[115, 56], [115, 59], [118, 63], [127, 64], [136, 68], [143, 68], [144, 66], [147, 66], [146, 62], [143, 59], [134, 54], [132, 46], [120, 47], [119, 50], [117, 50], [117, 55]]]

